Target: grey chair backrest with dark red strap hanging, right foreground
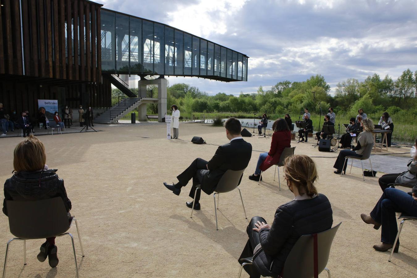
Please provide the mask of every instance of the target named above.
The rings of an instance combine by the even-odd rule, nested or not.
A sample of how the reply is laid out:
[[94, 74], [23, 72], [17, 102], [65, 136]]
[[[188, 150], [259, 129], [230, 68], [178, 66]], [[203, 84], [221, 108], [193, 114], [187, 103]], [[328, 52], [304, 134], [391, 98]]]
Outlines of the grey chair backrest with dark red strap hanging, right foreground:
[[[340, 222], [333, 228], [317, 233], [317, 264], [321, 273], [329, 260], [330, 248]], [[314, 277], [314, 235], [301, 235], [284, 263], [283, 277]]]

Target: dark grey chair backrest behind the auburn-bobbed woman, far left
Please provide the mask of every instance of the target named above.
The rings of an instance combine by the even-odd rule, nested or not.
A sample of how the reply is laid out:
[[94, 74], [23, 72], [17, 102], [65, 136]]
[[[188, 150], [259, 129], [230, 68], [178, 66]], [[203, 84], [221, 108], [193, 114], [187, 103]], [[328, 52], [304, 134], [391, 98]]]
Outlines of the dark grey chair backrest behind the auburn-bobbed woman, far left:
[[37, 201], [8, 200], [7, 211], [10, 233], [18, 238], [50, 238], [70, 228], [61, 197]]

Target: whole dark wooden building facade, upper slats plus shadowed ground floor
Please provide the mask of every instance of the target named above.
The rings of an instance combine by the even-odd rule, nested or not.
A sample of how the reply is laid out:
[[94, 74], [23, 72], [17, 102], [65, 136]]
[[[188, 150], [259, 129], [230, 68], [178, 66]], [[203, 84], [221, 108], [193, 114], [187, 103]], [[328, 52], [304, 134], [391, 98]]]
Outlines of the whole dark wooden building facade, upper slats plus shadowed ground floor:
[[[21, 4], [20, 4], [21, 3]], [[1, 0], [0, 102], [18, 113], [38, 99], [111, 105], [102, 82], [100, 7], [88, 0]]]

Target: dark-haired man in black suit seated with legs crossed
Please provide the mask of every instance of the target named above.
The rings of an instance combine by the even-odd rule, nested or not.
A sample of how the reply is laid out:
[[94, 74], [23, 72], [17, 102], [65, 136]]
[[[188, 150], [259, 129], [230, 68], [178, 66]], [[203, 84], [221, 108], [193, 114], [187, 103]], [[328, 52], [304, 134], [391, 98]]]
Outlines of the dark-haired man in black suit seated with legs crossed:
[[[181, 188], [193, 179], [193, 186], [189, 196], [194, 198], [196, 185], [201, 185], [201, 190], [210, 195], [216, 190], [217, 183], [227, 170], [243, 170], [249, 164], [252, 155], [252, 145], [247, 143], [240, 135], [241, 125], [238, 119], [229, 118], [225, 123], [226, 137], [230, 143], [217, 148], [210, 161], [196, 158], [186, 170], [177, 176], [178, 183], [163, 183], [175, 195], [180, 195]], [[197, 191], [194, 209], [200, 209], [200, 193]], [[193, 207], [193, 202], [186, 203], [188, 208]]]

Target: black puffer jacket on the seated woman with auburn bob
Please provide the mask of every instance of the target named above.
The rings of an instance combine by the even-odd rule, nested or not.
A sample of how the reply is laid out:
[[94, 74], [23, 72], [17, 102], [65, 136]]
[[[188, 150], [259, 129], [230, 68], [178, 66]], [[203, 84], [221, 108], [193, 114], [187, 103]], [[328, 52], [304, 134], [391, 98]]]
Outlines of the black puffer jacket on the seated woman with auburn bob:
[[61, 197], [65, 208], [70, 211], [71, 201], [67, 197], [64, 180], [58, 178], [56, 171], [49, 169], [43, 172], [21, 172], [8, 178], [4, 183], [3, 213], [8, 215], [7, 200], [35, 201], [54, 197]]

